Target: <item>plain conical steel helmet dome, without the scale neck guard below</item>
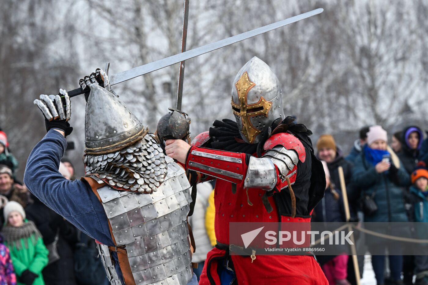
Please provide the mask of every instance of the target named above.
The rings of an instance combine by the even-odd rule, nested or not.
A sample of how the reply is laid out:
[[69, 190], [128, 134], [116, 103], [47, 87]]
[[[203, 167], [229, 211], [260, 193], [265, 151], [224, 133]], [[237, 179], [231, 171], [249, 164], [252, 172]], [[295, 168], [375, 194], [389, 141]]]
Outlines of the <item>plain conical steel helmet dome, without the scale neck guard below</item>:
[[85, 114], [86, 153], [116, 151], [147, 133], [119, 97], [97, 83], [90, 88]]

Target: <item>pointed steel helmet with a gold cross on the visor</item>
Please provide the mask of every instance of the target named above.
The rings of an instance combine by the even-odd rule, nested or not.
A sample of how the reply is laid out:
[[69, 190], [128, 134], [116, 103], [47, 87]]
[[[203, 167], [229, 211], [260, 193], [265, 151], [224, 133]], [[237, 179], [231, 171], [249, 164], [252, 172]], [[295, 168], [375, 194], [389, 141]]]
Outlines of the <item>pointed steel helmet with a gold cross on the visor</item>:
[[241, 68], [233, 81], [232, 110], [246, 143], [259, 143], [273, 121], [284, 119], [278, 77], [256, 56]]

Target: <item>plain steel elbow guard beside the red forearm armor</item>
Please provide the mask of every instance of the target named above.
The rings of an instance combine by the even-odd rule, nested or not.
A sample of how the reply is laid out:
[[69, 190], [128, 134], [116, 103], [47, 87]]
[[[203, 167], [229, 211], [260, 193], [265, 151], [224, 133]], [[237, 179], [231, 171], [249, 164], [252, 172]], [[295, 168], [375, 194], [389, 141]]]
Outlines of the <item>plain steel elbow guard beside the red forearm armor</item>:
[[272, 160], [265, 157], [250, 157], [244, 188], [272, 190], [276, 185], [276, 169]]

